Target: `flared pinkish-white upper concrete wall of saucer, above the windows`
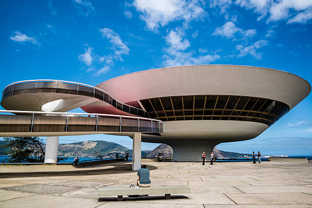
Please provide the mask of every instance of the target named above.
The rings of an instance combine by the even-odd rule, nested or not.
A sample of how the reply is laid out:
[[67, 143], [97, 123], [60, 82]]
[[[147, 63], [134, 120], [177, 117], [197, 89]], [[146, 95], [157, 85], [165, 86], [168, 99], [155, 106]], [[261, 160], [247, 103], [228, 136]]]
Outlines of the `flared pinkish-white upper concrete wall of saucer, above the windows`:
[[235, 66], [167, 67], [119, 76], [96, 85], [127, 103], [181, 95], [240, 95], [269, 98], [293, 108], [311, 91], [303, 78], [279, 70]]

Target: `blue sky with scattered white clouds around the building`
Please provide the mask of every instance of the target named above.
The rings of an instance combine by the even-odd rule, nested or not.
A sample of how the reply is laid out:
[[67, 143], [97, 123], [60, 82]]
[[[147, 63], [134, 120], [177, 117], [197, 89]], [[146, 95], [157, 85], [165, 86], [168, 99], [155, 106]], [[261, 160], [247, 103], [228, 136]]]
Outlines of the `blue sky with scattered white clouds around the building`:
[[[28, 79], [96, 85], [131, 72], [194, 64], [267, 67], [312, 82], [311, 0], [12, 0], [0, 5], [2, 90]], [[309, 95], [257, 138], [217, 148], [311, 155], [311, 106]], [[109, 135], [63, 136], [60, 143], [91, 139], [132, 146], [127, 137]], [[142, 144], [143, 150], [155, 146]]]

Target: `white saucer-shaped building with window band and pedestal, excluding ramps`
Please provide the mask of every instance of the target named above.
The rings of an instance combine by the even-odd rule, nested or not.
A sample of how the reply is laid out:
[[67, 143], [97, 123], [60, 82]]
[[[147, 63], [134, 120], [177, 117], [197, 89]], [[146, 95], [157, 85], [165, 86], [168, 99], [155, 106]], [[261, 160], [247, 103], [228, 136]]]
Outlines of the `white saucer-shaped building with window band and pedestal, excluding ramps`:
[[311, 90], [291, 73], [232, 65], [152, 69], [97, 87], [162, 120], [161, 136], [142, 135], [142, 141], [169, 144], [176, 161], [200, 161], [219, 143], [258, 136]]

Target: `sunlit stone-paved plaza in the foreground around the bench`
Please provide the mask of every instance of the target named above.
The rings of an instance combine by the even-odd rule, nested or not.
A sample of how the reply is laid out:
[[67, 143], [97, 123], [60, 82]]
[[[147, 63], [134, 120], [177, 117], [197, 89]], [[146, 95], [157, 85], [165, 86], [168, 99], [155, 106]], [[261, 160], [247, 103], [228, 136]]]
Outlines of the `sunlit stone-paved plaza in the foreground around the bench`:
[[142, 164], [150, 169], [152, 186], [189, 186], [191, 193], [175, 194], [169, 200], [164, 195], [98, 199], [99, 187], [136, 183], [137, 172], [131, 171], [131, 163], [89, 168], [2, 166], [0, 207], [312, 207], [312, 163]]

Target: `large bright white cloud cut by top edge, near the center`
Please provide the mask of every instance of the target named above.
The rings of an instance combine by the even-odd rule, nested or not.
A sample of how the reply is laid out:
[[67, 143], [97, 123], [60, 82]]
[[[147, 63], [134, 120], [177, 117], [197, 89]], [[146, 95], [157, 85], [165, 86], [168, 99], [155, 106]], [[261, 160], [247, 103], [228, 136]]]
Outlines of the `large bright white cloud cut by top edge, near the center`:
[[154, 32], [171, 21], [189, 22], [206, 15], [198, 0], [135, 0], [133, 5], [142, 13], [140, 18], [146, 27]]

